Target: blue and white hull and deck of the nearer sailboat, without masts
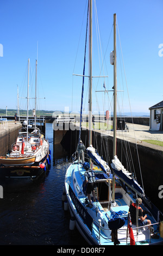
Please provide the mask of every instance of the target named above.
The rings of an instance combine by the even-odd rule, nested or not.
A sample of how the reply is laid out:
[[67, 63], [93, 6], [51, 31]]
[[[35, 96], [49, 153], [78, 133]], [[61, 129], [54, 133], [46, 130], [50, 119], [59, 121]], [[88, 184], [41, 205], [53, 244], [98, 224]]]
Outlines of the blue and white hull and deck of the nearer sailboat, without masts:
[[[78, 172], [80, 172], [80, 174]], [[120, 245], [129, 245], [130, 238], [127, 237], [127, 218], [129, 204], [135, 200], [133, 193], [128, 194], [122, 187], [117, 187], [116, 193], [121, 194], [122, 198], [115, 200], [117, 202], [116, 206], [112, 206], [110, 209], [104, 209], [103, 204], [105, 204], [105, 202], [99, 202], [100, 200], [97, 199], [96, 203], [92, 202], [92, 209], [87, 208], [85, 204], [86, 197], [82, 192], [84, 172], [85, 170], [82, 168], [81, 164], [74, 163], [68, 167], [65, 176], [67, 202], [71, 216], [75, 217], [76, 227], [80, 234], [84, 237], [86, 242], [89, 243], [89, 245], [114, 245], [114, 241], [112, 241], [111, 237], [111, 230], [108, 227], [108, 221], [109, 218], [111, 218], [112, 212], [120, 212], [121, 209], [121, 211], [123, 211], [123, 215], [119, 217], [125, 218], [126, 220], [123, 227], [117, 230], [117, 239], [120, 241]], [[109, 202], [107, 202], [107, 204], [109, 205]], [[102, 225], [100, 232], [99, 220], [101, 220]], [[153, 219], [153, 222], [155, 223], [156, 221]], [[161, 237], [159, 237], [159, 239], [150, 238], [148, 227], [140, 227], [138, 234], [134, 228], [136, 228], [135, 225], [133, 225], [133, 233], [136, 245], [151, 245], [163, 242]]]

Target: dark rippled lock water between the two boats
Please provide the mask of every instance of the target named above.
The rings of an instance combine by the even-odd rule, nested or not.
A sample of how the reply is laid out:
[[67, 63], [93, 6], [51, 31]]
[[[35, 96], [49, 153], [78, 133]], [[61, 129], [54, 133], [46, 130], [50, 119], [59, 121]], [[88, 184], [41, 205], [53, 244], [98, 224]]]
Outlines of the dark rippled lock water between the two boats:
[[61, 201], [68, 154], [53, 148], [52, 124], [46, 124], [52, 151], [51, 169], [33, 182], [0, 180], [0, 245], [86, 245], [78, 230], [69, 230], [70, 213]]

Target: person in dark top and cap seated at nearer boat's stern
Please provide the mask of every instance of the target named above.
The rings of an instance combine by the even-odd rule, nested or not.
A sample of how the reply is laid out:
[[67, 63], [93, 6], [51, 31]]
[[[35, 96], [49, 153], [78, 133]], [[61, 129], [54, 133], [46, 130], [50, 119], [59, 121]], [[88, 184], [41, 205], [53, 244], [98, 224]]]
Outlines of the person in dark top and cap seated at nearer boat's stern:
[[[141, 198], [136, 198], [136, 203], [130, 204], [129, 212], [131, 216], [131, 222], [133, 224], [136, 224], [136, 209], [138, 209], [138, 216], [141, 221], [141, 225], [151, 225], [151, 221], [147, 220], [147, 215], [145, 212], [143, 212], [142, 208], [140, 207], [140, 204], [142, 203]], [[148, 226], [148, 228], [151, 228], [152, 231], [154, 231], [154, 228], [151, 226]]]

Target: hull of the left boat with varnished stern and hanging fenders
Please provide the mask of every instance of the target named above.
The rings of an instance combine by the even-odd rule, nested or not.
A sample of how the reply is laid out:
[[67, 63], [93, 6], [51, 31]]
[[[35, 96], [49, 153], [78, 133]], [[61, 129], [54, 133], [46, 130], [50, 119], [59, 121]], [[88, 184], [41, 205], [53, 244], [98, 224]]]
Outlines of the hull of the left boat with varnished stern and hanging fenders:
[[[33, 150], [30, 149], [30, 146], [28, 149], [29, 151]], [[0, 156], [0, 176], [5, 178], [36, 178], [46, 173], [51, 163], [51, 150], [49, 150], [46, 139], [44, 139], [43, 145], [40, 145], [36, 152], [32, 153], [20, 155], [19, 152], [11, 152], [10, 155]]]

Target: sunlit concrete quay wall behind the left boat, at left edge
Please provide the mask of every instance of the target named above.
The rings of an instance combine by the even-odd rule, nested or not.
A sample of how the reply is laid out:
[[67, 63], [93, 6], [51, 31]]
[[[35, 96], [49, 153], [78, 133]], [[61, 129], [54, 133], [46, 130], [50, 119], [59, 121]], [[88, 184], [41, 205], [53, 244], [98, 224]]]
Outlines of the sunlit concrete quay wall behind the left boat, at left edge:
[[11, 149], [21, 127], [21, 123], [15, 124], [14, 121], [2, 121], [0, 123], [0, 156], [5, 155]]

